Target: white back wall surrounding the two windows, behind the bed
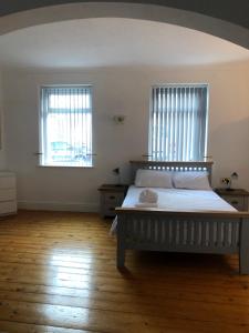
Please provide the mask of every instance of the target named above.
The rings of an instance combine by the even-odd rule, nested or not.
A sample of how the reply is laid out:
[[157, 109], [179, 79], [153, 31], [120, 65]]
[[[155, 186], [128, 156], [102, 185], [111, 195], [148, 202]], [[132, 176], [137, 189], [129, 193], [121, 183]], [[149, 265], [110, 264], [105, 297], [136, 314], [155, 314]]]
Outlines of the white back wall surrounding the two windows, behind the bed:
[[[249, 190], [249, 63], [183, 69], [95, 69], [71, 72], [6, 72], [3, 75], [6, 148], [18, 174], [20, 206], [94, 211], [97, 186], [115, 182], [112, 170], [147, 152], [149, 89], [155, 83], [210, 84], [208, 154], [215, 161], [214, 185], [239, 174], [237, 186]], [[94, 87], [93, 169], [39, 168], [39, 85], [92, 83]], [[113, 114], [126, 114], [115, 125]]]

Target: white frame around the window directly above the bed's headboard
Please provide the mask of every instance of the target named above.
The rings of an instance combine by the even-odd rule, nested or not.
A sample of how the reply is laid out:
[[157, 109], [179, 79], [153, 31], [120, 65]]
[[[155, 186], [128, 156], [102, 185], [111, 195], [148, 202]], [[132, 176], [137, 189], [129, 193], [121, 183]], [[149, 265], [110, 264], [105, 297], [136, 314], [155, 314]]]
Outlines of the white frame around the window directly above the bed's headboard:
[[[205, 88], [206, 89], [206, 125], [204, 128], [205, 131], [205, 142], [204, 142], [204, 151], [203, 155], [198, 159], [198, 161], [204, 161], [207, 157], [207, 143], [208, 143], [208, 114], [209, 114], [209, 84], [208, 83], [167, 83], [167, 84], [154, 84], [151, 88], [151, 95], [149, 95], [149, 121], [148, 121], [148, 159], [154, 161], [194, 161], [191, 159], [163, 159], [158, 157], [158, 154], [155, 157], [155, 153], [153, 151], [153, 91], [154, 89], [165, 89], [165, 88]], [[160, 142], [163, 145], [163, 143]], [[196, 161], [196, 160], [195, 160]]]

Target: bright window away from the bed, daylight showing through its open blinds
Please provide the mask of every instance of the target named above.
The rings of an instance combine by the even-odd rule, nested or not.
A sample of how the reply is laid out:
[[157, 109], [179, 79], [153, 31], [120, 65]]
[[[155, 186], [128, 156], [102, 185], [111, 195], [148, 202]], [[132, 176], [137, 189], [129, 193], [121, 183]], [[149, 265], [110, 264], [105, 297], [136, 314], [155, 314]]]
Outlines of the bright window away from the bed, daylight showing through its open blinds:
[[41, 165], [92, 167], [92, 88], [42, 87]]

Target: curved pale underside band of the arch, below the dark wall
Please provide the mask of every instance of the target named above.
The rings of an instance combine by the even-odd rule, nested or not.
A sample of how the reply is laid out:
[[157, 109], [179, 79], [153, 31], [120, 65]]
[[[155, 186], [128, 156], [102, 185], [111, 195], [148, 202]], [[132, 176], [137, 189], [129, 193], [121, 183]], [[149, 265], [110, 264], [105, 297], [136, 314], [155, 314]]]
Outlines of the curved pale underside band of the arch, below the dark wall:
[[129, 18], [172, 23], [199, 30], [249, 49], [247, 28], [194, 11], [131, 2], [75, 2], [14, 12], [0, 18], [0, 34], [38, 24], [86, 18]]

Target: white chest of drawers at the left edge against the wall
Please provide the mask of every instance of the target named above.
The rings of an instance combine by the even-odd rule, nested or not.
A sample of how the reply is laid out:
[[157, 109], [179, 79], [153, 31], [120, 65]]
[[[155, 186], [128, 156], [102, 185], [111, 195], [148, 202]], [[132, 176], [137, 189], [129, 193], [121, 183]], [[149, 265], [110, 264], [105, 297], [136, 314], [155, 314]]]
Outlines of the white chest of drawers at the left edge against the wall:
[[0, 172], [0, 216], [17, 213], [17, 184], [15, 174]]

